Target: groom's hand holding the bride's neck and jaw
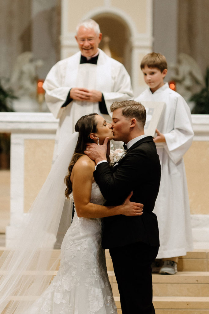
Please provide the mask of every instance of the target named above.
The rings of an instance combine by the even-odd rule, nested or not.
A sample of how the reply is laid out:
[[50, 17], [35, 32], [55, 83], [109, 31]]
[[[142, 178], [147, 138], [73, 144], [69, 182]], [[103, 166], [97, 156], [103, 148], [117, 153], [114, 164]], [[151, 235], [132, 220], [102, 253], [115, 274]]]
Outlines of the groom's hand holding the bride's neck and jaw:
[[[94, 160], [96, 165], [99, 161], [107, 160], [108, 139], [109, 139], [108, 137], [105, 138], [103, 145], [97, 145], [95, 143], [87, 143], [86, 144], [86, 150], [84, 151], [84, 154], [86, 154], [92, 160]], [[109, 151], [109, 149], [108, 149], [108, 151]]]

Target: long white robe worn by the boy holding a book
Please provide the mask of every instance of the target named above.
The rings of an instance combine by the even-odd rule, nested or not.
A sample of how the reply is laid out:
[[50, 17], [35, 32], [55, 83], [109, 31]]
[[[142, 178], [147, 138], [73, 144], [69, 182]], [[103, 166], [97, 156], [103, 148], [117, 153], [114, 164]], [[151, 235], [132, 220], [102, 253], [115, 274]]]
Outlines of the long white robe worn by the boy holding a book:
[[[154, 94], [146, 89], [135, 100], [163, 101], [166, 106], [157, 129], [166, 143], [157, 143], [161, 182], [154, 213], [159, 224], [160, 247], [157, 258], [186, 255], [193, 250], [189, 197], [183, 155], [194, 136], [189, 106], [168, 83]], [[151, 192], [151, 191], [150, 191]]]

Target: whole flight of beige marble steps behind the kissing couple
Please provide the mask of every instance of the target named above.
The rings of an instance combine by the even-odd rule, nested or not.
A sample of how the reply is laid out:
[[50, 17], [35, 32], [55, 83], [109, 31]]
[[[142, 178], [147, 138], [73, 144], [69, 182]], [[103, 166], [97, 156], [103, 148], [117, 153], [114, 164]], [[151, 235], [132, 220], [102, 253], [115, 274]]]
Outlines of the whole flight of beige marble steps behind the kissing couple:
[[[9, 249], [1, 247], [0, 255], [5, 251], [7, 255]], [[54, 250], [51, 262], [59, 254], [59, 250]], [[177, 274], [153, 274], [153, 302], [156, 314], [209, 314], [208, 258], [208, 249], [198, 249], [180, 257]], [[122, 314], [118, 286], [108, 250], [106, 250], [106, 261], [118, 314]], [[51, 273], [51, 276], [55, 274], [56, 271]]]

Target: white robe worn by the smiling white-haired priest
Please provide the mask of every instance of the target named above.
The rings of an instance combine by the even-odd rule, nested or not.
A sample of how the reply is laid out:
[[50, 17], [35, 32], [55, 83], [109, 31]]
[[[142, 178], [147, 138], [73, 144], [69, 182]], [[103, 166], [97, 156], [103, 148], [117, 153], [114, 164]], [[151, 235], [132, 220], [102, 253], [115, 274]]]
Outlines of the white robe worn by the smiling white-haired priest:
[[98, 102], [73, 100], [62, 108], [71, 88], [83, 87], [101, 91], [109, 113], [104, 116], [107, 120], [111, 120], [109, 108], [113, 101], [133, 99], [130, 76], [120, 62], [108, 57], [101, 49], [97, 65], [80, 64], [80, 58], [79, 51], [72, 57], [57, 62], [44, 81], [46, 103], [55, 118], [60, 119], [54, 158], [67, 142], [69, 135], [75, 131], [75, 124], [81, 116], [93, 112], [100, 113]]

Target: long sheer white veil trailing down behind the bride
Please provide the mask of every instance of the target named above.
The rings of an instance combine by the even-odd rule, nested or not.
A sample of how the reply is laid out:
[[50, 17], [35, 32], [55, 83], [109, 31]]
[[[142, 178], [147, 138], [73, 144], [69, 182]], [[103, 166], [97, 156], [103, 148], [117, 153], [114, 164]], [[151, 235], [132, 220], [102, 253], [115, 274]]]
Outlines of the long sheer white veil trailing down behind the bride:
[[77, 139], [75, 132], [52, 165], [14, 244], [0, 257], [0, 313], [24, 314], [50, 284], [60, 258], [52, 259], [52, 254], [63, 219], [64, 177]]

